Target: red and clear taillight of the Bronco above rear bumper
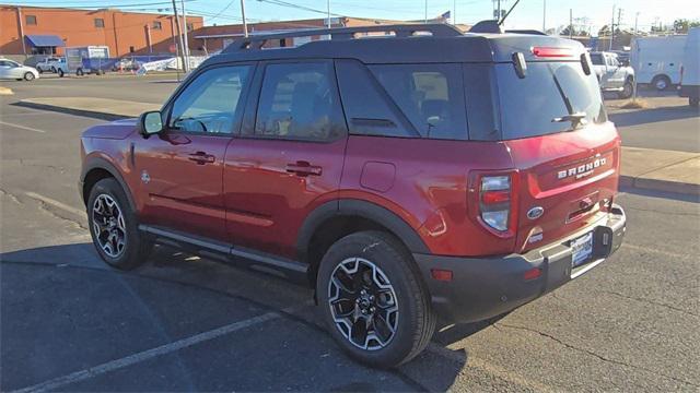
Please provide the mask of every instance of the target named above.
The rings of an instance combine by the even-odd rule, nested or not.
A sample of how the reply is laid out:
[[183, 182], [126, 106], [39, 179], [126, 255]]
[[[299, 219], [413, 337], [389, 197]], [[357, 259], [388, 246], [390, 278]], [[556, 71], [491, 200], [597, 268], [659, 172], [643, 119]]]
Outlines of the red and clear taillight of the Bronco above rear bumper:
[[471, 177], [470, 211], [490, 233], [512, 237], [516, 228], [517, 172], [476, 172]]

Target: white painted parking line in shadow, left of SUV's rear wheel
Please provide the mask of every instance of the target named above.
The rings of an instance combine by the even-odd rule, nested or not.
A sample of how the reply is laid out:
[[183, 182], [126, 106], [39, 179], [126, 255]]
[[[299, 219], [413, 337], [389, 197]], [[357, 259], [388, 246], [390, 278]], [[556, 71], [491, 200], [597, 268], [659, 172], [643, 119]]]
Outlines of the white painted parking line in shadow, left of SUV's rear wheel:
[[[289, 308], [289, 309], [284, 309], [284, 312], [291, 312], [294, 308]], [[27, 386], [27, 388], [23, 388], [20, 390], [14, 391], [14, 393], [28, 393], [28, 392], [46, 392], [46, 391], [54, 391], [57, 390], [59, 388], [66, 386], [68, 384], [71, 383], [75, 383], [75, 382], [80, 382], [80, 381], [84, 381], [86, 379], [100, 376], [100, 374], [104, 374], [110, 371], [115, 371], [118, 369], [122, 369], [125, 367], [128, 366], [132, 366], [136, 364], [139, 364], [141, 361], [145, 361], [149, 359], [152, 359], [154, 357], [158, 356], [162, 356], [162, 355], [167, 355], [171, 353], [174, 353], [176, 350], [199, 344], [199, 343], [203, 343], [217, 337], [221, 337], [223, 335], [226, 335], [229, 333], [233, 333], [235, 331], [240, 331], [246, 327], [250, 327], [253, 325], [259, 324], [259, 323], [264, 323], [267, 321], [271, 321], [275, 319], [279, 319], [282, 318], [282, 315], [280, 313], [277, 312], [267, 312], [264, 313], [258, 317], [254, 317], [250, 319], [247, 319], [245, 321], [241, 321], [241, 322], [234, 322], [231, 324], [228, 324], [225, 326], [221, 326], [214, 330], [210, 330], [208, 332], [203, 332], [203, 333], [199, 333], [196, 334], [194, 336], [189, 336], [187, 338], [183, 338], [183, 340], [178, 340], [176, 342], [170, 343], [170, 344], [165, 344], [165, 345], [161, 345], [159, 347], [152, 348], [152, 349], [148, 349], [148, 350], [143, 350], [140, 352], [138, 354], [133, 354], [133, 355], [129, 355], [127, 357], [122, 357], [120, 359], [115, 359], [112, 361], [107, 361], [105, 364], [102, 364], [100, 366], [95, 366], [95, 367], [91, 367], [89, 369], [84, 369], [84, 370], [80, 370], [80, 371], [75, 371], [73, 373], [63, 376], [63, 377], [58, 377], [55, 378], [52, 380], [46, 381], [46, 382], [42, 382], [38, 384], [35, 384], [33, 386]]]

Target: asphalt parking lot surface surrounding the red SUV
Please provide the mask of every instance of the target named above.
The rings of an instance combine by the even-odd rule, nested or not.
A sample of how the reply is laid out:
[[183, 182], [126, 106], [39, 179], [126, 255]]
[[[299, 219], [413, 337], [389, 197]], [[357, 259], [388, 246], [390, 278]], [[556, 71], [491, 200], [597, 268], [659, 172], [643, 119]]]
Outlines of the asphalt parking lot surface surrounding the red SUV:
[[[77, 192], [78, 138], [102, 120], [13, 103], [158, 103], [171, 79], [3, 84], [15, 95], [0, 97], [0, 390], [700, 390], [696, 196], [621, 190], [629, 230], [610, 260], [500, 319], [444, 327], [389, 371], [339, 350], [310, 289], [167, 247], [132, 272], [107, 267]], [[626, 116], [639, 143], [700, 132], [697, 115]]]

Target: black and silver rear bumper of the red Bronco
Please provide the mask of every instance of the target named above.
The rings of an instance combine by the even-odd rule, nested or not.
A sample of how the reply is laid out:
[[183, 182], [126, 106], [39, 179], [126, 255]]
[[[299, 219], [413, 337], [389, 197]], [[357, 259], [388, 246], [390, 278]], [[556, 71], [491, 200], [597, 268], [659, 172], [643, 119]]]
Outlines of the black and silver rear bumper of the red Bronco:
[[[565, 239], [525, 254], [494, 258], [455, 258], [413, 254], [432, 297], [433, 309], [450, 322], [475, 322], [511, 311], [595, 267], [622, 245], [627, 217], [619, 205], [595, 224]], [[594, 233], [591, 262], [572, 270], [569, 243]], [[432, 269], [453, 272], [450, 282], [436, 281]], [[541, 275], [526, 281], [525, 272]]]

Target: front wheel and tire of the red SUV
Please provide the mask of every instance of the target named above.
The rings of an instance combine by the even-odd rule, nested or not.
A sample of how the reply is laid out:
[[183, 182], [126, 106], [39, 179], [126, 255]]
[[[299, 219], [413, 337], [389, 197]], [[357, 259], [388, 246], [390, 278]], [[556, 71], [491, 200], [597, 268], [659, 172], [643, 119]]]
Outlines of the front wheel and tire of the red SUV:
[[102, 179], [90, 190], [88, 223], [97, 253], [113, 267], [135, 269], [153, 248], [152, 239], [139, 231], [136, 213], [114, 178]]

